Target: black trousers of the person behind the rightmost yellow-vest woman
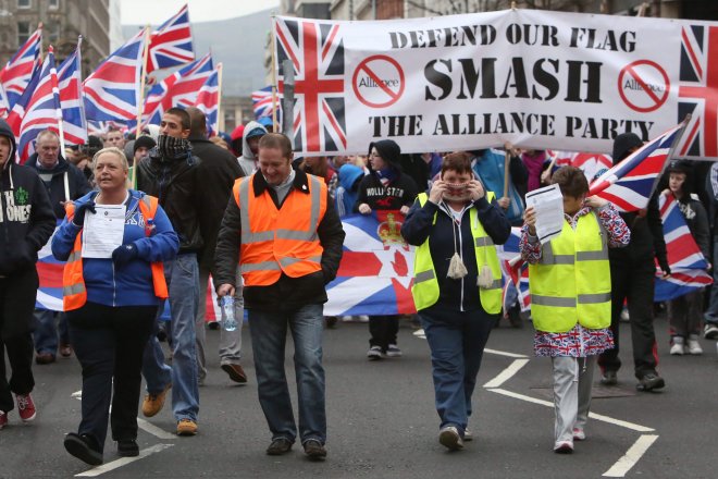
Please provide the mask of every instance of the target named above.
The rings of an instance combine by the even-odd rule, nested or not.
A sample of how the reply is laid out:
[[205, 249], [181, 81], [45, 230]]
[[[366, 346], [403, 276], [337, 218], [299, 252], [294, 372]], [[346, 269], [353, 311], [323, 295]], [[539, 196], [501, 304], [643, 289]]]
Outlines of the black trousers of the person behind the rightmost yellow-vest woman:
[[656, 334], [653, 329], [654, 297], [653, 262], [635, 267], [635, 265], [616, 266], [611, 263], [611, 316], [610, 329], [614, 332], [616, 346], [598, 356], [598, 365], [604, 370], [618, 371], [621, 367], [619, 354], [619, 322], [623, 300], [628, 302], [631, 317], [631, 342], [633, 343], [633, 364], [635, 377], [641, 379], [647, 372], [656, 372], [658, 353], [656, 351]]

